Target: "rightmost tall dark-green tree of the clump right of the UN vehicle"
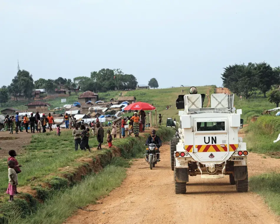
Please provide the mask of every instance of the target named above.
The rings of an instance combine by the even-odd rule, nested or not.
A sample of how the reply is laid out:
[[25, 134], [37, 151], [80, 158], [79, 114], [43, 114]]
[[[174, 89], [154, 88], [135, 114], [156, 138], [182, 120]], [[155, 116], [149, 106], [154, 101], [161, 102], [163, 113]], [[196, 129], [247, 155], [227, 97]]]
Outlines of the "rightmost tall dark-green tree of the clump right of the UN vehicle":
[[264, 97], [266, 97], [266, 92], [271, 89], [271, 86], [279, 83], [280, 74], [277, 69], [273, 70], [272, 67], [266, 62], [256, 64], [255, 70], [257, 73], [257, 88], [258, 90], [261, 90]]

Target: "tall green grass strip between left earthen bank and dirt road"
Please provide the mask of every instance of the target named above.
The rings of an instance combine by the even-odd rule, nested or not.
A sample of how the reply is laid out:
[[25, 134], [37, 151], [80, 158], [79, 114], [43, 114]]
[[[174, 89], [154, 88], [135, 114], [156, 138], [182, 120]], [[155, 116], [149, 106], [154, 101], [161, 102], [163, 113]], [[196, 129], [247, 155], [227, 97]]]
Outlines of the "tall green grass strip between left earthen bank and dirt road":
[[126, 177], [128, 162], [120, 159], [113, 161], [98, 174], [87, 176], [79, 184], [65, 191], [58, 191], [44, 204], [40, 204], [37, 212], [26, 218], [16, 216], [9, 217], [9, 223], [13, 224], [59, 224], [73, 215], [79, 207], [94, 203], [99, 197], [108, 195], [111, 190], [119, 187]]

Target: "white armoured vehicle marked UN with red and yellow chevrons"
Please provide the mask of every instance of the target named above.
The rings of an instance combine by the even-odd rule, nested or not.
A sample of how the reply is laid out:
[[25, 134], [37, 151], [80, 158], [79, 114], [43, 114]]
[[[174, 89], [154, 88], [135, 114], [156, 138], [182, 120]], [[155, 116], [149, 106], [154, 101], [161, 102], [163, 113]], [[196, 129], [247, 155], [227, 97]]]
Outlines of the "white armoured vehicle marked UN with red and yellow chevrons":
[[[199, 174], [229, 175], [238, 192], [247, 192], [248, 151], [238, 137], [243, 119], [241, 109], [233, 107], [234, 95], [212, 94], [211, 107], [202, 108], [205, 94], [196, 94], [195, 87], [190, 93], [178, 96], [177, 109], [184, 111], [179, 111], [179, 128], [170, 140], [175, 193], [185, 193], [189, 176]], [[167, 118], [167, 127], [175, 128], [176, 122]]]

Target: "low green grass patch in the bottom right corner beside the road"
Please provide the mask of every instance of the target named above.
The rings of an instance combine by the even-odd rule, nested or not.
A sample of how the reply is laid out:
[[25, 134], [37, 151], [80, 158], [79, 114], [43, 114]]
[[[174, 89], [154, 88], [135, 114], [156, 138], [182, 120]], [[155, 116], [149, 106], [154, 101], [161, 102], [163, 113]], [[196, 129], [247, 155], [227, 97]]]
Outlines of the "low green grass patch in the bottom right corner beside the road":
[[250, 178], [250, 190], [260, 194], [277, 215], [280, 215], [280, 174], [271, 172]]

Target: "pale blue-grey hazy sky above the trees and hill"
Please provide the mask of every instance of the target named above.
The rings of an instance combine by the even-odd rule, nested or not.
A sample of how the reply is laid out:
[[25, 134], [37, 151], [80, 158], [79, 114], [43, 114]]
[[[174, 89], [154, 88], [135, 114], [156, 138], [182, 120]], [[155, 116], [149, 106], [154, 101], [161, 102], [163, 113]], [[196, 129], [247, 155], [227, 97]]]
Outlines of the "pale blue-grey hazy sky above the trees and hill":
[[280, 65], [279, 0], [0, 0], [0, 77], [121, 68], [159, 88], [222, 85], [223, 67]]

